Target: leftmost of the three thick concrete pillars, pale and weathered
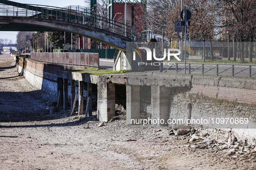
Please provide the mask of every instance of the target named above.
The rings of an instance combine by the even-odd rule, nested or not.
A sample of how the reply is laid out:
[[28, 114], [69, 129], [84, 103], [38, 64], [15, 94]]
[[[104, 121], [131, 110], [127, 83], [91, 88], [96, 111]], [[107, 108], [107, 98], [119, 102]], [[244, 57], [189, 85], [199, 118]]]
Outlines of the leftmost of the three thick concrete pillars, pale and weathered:
[[107, 122], [113, 116], [116, 115], [115, 84], [98, 82], [97, 85], [98, 85], [97, 117], [101, 122], [103, 121]]

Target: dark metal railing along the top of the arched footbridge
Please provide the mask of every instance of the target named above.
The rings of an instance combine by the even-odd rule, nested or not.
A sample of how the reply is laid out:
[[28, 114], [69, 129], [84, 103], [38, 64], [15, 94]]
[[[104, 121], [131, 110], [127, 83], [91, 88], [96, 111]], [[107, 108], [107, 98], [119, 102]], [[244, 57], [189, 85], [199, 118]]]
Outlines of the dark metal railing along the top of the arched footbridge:
[[[88, 25], [105, 31], [110, 31], [118, 35], [132, 38], [132, 27], [123, 23], [94, 15], [90, 11], [59, 8], [54, 6], [42, 6], [36, 4], [17, 3], [17, 6], [0, 4], [0, 16], [40, 18], [49, 20], [59, 20], [65, 22], [75, 22], [81, 25]], [[126, 34], [125, 34], [126, 31]]]

